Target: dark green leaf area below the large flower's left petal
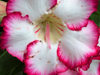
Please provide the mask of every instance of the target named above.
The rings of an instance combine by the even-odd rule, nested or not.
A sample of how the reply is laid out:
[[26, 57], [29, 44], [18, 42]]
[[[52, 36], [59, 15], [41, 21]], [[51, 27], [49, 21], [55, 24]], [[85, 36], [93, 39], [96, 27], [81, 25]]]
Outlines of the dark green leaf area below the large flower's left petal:
[[24, 75], [24, 64], [7, 51], [0, 51], [0, 75]]

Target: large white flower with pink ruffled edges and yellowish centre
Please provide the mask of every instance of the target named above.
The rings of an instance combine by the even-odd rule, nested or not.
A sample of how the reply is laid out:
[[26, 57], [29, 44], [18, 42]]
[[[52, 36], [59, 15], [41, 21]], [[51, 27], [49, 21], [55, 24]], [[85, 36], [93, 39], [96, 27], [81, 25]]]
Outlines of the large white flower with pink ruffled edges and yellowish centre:
[[28, 75], [56, 75], [97, 55], [97, 0], [9, 0], [0, 47], [25, 63]]

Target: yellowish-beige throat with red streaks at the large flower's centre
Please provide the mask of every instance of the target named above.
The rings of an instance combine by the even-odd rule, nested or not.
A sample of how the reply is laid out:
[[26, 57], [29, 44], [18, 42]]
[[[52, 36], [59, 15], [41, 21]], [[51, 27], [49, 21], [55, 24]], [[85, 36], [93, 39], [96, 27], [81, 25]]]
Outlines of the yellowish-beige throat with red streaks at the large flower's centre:
[[44, 14], [35, 21], [35, 25], [35, 33], [38, 34], [38, 37], [45, 42], [47, 42], [47, 38], [51, 43], [57, 43], [60, 40], [65, 28], [62, 20], [53, 13]]

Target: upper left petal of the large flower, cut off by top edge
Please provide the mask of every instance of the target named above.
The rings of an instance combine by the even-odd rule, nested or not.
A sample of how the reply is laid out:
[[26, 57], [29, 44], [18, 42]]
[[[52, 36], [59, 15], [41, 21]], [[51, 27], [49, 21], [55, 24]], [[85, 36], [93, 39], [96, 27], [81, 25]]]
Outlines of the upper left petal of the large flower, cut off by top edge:
[[7, 13], [20, 11], [24, 16], [29, 15], [31, 21], [34, 21], [45, 14], [56, 3], [56, 0], [9, 0]]

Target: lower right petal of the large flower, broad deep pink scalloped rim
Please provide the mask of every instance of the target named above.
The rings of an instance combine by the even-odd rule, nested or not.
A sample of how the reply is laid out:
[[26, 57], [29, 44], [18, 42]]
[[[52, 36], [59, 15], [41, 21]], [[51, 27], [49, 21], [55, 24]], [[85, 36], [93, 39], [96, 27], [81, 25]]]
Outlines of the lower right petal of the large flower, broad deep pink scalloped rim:
[[97, 43], [98, 28], [93, 21], [89, 21], [81, 31], [65, 30], [57, 55], [70, 68], [81, 66], [97, 54]]

